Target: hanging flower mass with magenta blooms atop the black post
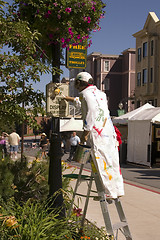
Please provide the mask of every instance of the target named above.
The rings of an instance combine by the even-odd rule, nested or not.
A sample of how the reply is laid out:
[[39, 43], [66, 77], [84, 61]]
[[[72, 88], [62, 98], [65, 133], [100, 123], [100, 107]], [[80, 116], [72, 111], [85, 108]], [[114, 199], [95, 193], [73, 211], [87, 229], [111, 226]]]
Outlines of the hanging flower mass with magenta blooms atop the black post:
[[[29, 21], [42, 33], [44, 49], [58, 42], [62, 48], [90, 38], [92, 31], [100, 30], [99, 20], [104, 17], [104, 3], [100, 0], [20, 0], [15, 1], [16, 18]], [[16, 8], [15, 8], [16, 9]], [[88, 41], [90, 46], [91, 41]]]

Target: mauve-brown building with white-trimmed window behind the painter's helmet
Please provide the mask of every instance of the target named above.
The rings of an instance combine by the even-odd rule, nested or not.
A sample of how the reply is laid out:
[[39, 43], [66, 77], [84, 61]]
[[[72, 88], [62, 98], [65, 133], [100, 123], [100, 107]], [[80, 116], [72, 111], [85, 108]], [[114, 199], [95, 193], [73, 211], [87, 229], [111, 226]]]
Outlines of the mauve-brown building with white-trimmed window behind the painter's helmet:
[[[82, 69], [71, 69], [70, 78]], [[93, 52], [87, 56], [86, 71], [94, 79], [95, 85], [106, 93], [112, 116], [117, 116], [119, 104], [125, 112], [134, 109], [135, 49], [129, 48], [121, 55], [107, 55]]]

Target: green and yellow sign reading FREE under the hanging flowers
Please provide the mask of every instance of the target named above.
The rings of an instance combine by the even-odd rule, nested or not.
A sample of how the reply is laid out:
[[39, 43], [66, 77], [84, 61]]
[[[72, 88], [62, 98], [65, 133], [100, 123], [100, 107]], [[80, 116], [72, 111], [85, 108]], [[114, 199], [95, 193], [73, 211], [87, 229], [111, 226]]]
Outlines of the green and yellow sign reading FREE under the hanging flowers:
[[85, 69], [87, 64], [87, 48], [83, 43], [79, 43], [76, 46], [69, 44], [69, 50], [67, 51], [67, 68], [81, 68]]

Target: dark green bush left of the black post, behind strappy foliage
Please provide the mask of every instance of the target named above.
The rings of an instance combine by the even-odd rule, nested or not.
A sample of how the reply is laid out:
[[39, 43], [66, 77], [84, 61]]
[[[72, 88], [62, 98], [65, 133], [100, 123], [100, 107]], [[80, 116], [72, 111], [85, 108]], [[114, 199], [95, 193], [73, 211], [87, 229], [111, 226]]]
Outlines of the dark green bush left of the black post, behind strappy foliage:
[[0, 161], [0, 197], [4, 200], [14, 196], [16, 201], [29, 198], [44, 200], [48, 194], [48, 163], [36, 161], [28, 168], [26, 158]]

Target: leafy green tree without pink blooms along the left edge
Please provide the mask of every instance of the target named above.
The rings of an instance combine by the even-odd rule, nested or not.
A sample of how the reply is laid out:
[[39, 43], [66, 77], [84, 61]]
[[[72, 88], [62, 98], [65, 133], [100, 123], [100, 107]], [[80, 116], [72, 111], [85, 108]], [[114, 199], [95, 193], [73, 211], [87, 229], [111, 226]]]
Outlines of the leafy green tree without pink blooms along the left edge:
[[26, 121], [34, 127], [35, 117], [44, 112], [44, 94], [32, 84], [55, 69], [34, 58], [40, 34], [26, 21], [14, 21], [7, 3], [0, 6], [0, 126]]

